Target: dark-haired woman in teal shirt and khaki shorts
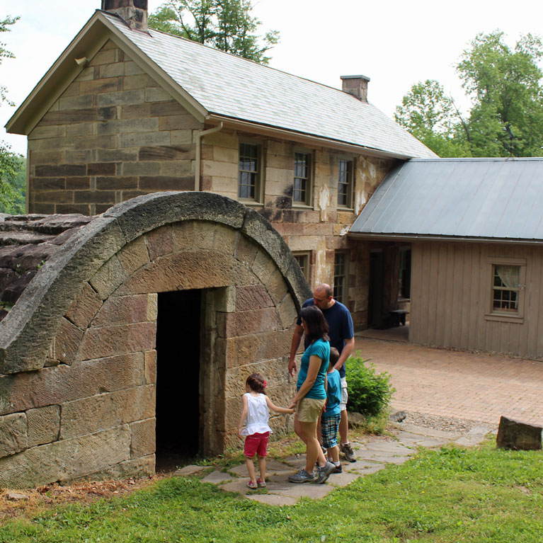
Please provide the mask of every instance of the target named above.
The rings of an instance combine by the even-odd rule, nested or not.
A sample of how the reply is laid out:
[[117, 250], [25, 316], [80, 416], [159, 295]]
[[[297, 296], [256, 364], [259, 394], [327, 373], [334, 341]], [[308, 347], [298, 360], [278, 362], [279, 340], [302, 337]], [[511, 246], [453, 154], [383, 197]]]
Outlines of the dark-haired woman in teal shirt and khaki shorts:
[[[304, 307], [300, 316], [309, 345], [302, 355], [297, 392], [292, 398], [291, 407], [296, 407], [295, 431], [306, 444], [307, 450], [305, 469], [291, 475], [289, 481], [324, 483], [335, 468], [334, 464], [324, 457], [316, 437], [316, 424], [326, 401], [325, 380], [330, 358], [328, 323], [322, 311], [314, 305]], [[313, 473], [315, 462], [318, 464], [316, 474]]]

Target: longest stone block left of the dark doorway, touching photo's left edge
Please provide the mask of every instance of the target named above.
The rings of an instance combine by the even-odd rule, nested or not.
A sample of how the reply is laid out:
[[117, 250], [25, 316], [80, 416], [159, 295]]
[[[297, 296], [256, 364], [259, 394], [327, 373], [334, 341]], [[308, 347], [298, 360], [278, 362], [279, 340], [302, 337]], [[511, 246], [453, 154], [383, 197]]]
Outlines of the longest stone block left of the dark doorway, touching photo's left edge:
[[143, 383], [143, 353], [47, 367], [20, 375], [0, 375], [0, 415], [62, 404]]

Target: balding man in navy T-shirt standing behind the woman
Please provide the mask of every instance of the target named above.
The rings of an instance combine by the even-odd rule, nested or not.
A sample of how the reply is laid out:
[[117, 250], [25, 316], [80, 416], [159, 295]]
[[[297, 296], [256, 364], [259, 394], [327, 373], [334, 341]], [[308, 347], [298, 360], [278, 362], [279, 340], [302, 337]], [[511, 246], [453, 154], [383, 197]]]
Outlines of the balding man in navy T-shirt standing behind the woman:
[[[328, 322], [328, 328], [330, 328], [328, 334], [330, 336], [330, 345], [335, 347], [340, 355], [339, 360], [334, 366], [336, 370], [339, 370], [341, 377], [341, 421], [339, 423], [339, 435], [341, 438], [341, 452], [345, 455], [345, 459], [349, 462], [356, 462], [353, 448], [350, 446], [348, 438], [349, 421], [347, 418], [347, 380], [345, 379], [345, 360], [349, 358], [350, 353], [355, 348], [355, 331], [353, 327], [353, 319], [350, 316], [349, 310], [336, 299], [333, 299], [333, 290], [330, 285], [323, 283], [318, 287], [315, 287], [313, 292], [313, 298], [310, 298], [304, 302], [302, 307], [308, 305], [316, 305], [324, 314], [326, 322]], [[296, 328], [292, 336], [292, 343], [290, 345], [290, 359], [288, 362], [288, 371], [292, 377], [294, 377], [296, 367], [296, 353], [299, 348], [299, 344], [302, 341], [304, 335], [304, 329], [302, 328], [302, 321], [298, 317]], [[307, 345], [305, 345], [307, 348]]]

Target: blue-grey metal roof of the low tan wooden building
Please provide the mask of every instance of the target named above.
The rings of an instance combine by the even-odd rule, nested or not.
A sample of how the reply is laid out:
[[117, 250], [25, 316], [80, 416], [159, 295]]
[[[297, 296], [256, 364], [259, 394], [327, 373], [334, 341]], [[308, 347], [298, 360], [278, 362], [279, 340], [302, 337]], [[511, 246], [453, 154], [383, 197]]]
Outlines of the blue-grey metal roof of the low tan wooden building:
[[543, 158], [407, 161], [350, 234], [543, 240]]

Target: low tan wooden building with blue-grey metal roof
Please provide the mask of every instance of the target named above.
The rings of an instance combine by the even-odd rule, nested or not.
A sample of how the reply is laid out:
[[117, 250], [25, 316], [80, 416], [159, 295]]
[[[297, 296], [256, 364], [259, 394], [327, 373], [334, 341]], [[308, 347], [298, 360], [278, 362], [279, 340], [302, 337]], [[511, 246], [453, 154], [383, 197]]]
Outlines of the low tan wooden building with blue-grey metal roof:
[[542, 158], [411, 160], [384, 179], [350, 236], [411, 251], [410, 341], [543, 357], [542, 181]]

